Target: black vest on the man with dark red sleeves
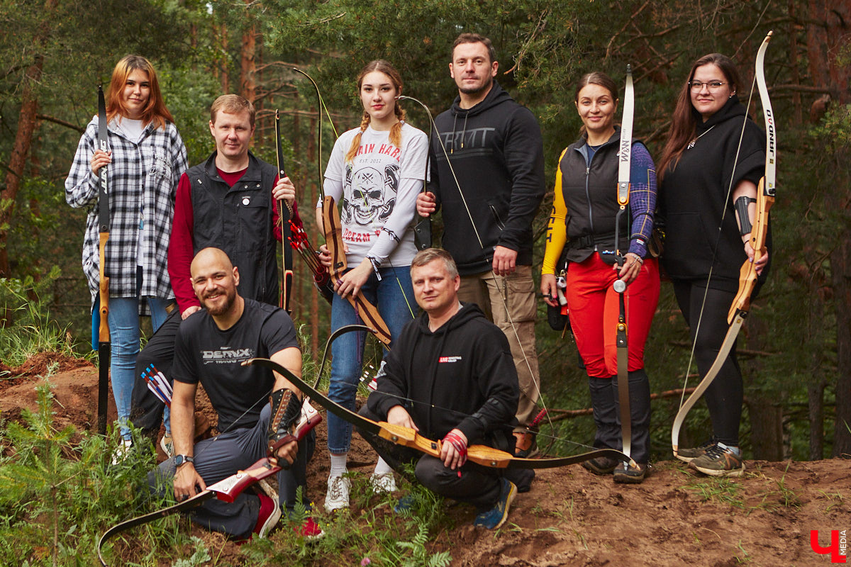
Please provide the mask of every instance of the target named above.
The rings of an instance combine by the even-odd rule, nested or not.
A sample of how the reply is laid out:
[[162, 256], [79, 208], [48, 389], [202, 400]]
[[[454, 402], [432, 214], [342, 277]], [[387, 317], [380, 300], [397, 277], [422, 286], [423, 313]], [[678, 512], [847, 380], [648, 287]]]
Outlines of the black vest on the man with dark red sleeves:
[[271, 188], [277, 167], [248, 152], [248, 169], [228, 187], [215, 167], [216, 152], [207, 162], [186, 171], [191, 183], [194, 253], [206, 247], [224, 250], [239, 269], [239, 294], [277, 305], [275, 233], [271, 225]]

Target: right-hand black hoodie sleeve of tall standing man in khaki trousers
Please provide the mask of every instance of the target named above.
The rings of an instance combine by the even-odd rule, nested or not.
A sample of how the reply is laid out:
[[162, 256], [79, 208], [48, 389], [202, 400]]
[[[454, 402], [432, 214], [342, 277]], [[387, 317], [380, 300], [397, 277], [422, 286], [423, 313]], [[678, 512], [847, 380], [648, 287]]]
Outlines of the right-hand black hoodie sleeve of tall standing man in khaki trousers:
[[511, 203], [498, 244], [520, 251], [545, 190], [540, 126], [523, 106], [517, 106], [505, 128], [505, 167], [511, 179]]

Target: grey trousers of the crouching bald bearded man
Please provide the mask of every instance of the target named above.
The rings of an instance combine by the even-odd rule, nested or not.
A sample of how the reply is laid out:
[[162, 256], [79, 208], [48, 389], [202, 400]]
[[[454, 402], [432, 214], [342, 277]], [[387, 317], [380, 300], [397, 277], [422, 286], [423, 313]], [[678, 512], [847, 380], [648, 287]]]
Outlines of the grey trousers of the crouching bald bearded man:
[[[226, 479], [237, 470], [248, 468], [266, 456], [267, 430], [271, 417], [271, 405], [260, 411], [260, 419], [252, 428], [239, 428], [204, 439], [195, 445], [195, 469], [208, 486]], [[295, 506], [296, 490], [301, 487], [301, 500], [309, 507], [307, 497], [307, 462], [316, 448], [316, 434], [311, 431], [299, 442], [299, 454], [292, 467], [277, 473], [278, 497], [287, 510]], [[148, 485], [152, 493], [164, 496], [172, 490], [172, 479], [176, 467], [174, 457], [160, 463], [148, 473]], [[236, 538], [251, 535], [260, 513], [260, 498], [243, 492], [232, 502], [212, 499], [204, 502], [190, 513], [193, 522], [208, 530], [221, 531]]]

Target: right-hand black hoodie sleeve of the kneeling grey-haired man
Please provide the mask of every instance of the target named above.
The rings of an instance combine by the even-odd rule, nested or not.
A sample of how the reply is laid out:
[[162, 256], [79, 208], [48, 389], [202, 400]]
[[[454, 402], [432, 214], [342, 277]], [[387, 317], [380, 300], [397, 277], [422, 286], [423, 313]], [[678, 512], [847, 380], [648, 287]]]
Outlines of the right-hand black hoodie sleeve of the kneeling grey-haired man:
[[485, 402], [456, 426], [470, 445], [482, 443], [489, 433], [510, 424], [517, 413], [520, 395], [517, 368], [505, 333], [497, 326], [488, 325], [477, 334], [476, 365], [471, 379], [477, 382]]

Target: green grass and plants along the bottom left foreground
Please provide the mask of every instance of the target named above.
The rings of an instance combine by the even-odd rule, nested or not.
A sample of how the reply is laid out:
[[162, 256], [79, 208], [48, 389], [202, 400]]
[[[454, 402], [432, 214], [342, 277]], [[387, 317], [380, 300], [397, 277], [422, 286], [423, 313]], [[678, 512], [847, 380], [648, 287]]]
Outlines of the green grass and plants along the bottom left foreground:
[[[156, 465], [150, 444], [138, 439], [135, 451], [118, 465], [111, 454], [119, 435], [104, 438], [69, 426], [54, 428], [54, 400], [49, 383], [38, 387], [38, 410], [23, 411], [23, 422], [0, 428], [0, 560], [2, 564], [92, 565], [95, 544], [112, 524], [165, 507], [169, 502], [148, 497], [146, 472]], [[325, 514], [317, 509], [326, 536], [311, 544], [292, 528], [306, 518], [302, 508], [283, 520], [267, 540], [241, 548], [242, 564], [250, 565], [448, 565], [447, 551], [432, 553], [437, 531], [449, 529], [443, 500], [420, 485], [400, 479], [401, 491], [374, 494], [368, 474], [352, 474], [350, 510]], [[413, 497], [408, 512], [393, 507], [401, 494]], [[209, 543], [189, 537], [186, 519], [170, 516], [129, 530], [107, 542], [109, 564], [177, 567], [225, 565]], [[126, 558], [131, 557], [132, 562]]]

